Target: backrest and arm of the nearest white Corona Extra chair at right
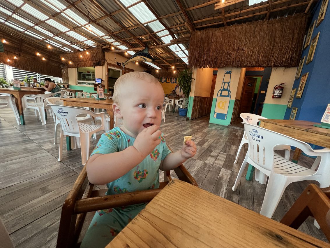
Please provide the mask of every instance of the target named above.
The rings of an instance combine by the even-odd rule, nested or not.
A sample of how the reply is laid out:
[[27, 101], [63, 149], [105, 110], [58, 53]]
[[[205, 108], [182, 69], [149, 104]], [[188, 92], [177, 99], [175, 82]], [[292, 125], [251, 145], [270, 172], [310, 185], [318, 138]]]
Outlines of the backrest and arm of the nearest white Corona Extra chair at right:
[[[268, 129], [249, 123], [243, 123], [248, 139], [248, 157], [266, 170], [273, 170], [274, 147], [277, 145], [291, 145], [303, 150], [307, 155], [317, 156], [310, 145]], [[258, 152], [259, 151], [259, 152]], [[262, 152], [263, 151], [263, 152]], [[276, 165], [275, 165], [276, 166]]]

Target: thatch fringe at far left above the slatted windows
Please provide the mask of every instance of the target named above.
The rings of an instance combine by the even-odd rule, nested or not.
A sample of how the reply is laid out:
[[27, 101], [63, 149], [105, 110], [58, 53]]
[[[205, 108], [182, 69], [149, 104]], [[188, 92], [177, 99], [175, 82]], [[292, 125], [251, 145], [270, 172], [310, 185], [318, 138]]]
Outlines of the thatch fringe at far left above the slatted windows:
[[[62, 77], [60, 64], [56, 65], [47, 60], [37, 61], [32, 56], [31, 58], [19, 56], [18, 59], [14, 60], [14, 56], [18, 56], [17, 53], [12, 53], [9, 51], [0, 53], [0, 63], [8, 64], [20, 70], [36, 72], [53, 77]], [[10, 62], [7, 62], [8, 59], [10, 59]]]

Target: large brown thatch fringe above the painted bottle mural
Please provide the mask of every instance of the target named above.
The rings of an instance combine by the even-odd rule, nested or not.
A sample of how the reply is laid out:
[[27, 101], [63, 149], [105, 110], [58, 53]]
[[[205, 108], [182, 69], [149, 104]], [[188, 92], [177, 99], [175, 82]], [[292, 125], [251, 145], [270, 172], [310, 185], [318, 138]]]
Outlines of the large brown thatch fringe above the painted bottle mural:
[[191, 34], [189, 65], [198, 68], [293, 67], [299, 64], [308, 16], [198, 30]]

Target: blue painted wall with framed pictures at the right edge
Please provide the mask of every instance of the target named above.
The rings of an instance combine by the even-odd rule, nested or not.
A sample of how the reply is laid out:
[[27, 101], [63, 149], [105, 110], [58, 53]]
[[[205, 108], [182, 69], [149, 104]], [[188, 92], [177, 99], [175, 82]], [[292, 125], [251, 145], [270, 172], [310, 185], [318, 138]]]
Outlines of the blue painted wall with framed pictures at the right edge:
[[[321, 0], [314, 9], [313, 19], [317, 20]], [[330, 4], [329, 4], [330, 5]], [[320, 32], [313, 61], [306, 65], [310, 46], [303, 50], [301, 58], [306, 56], [301, 75], [309, 72], [302, 98], [295, 98], [292, 107], [297, 107], [296, 120], [319, 122], [328, 103], [330, 103], [330, 6], [328, 5], [324, 20], [315, 27], [312, 39]], [[293, 88], [297, 88], [300, 79], [296, 79]], [[297, 92], [296, 92], [297, 94]], [[284, 119], [289, 119], [291, 108], [287, 108]]]

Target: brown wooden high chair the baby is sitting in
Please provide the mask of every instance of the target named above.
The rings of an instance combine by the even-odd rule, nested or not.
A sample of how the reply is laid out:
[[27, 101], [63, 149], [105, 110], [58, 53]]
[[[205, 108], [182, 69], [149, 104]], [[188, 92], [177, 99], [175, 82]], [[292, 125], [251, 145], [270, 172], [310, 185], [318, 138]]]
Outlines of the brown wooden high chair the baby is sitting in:
[[[180, 180], [198, 187], [182, 164], [174, 172]], [[75, 247], [87, 212], [149, 202], [171, 180], [170, 171], [166, 171], [164, 182], [160, 183], [159, 188], [105, 195], [108, 189], [95, 190], [95, 185], [88, 182], [84, 166], [62, 206], [56, 247]]]

